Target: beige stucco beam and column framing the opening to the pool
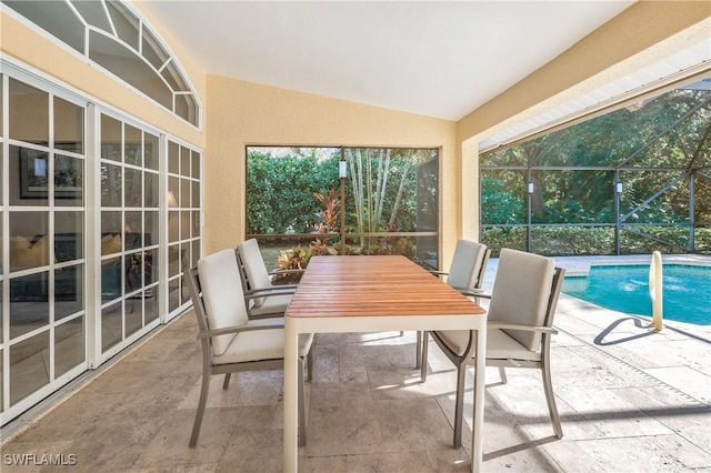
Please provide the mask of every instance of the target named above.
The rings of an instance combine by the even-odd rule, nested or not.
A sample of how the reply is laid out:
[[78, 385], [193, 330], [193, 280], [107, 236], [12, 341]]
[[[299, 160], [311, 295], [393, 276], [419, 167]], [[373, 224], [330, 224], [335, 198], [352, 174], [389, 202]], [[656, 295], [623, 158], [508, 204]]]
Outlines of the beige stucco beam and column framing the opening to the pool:
[[711, 36], [711, 2], [651, 1], [632, 4], [568, 51], [457, 123], [462, 182], [462, 234], [479, 225], [478, 145], [487, 135], [525, 121], [625, 77]]

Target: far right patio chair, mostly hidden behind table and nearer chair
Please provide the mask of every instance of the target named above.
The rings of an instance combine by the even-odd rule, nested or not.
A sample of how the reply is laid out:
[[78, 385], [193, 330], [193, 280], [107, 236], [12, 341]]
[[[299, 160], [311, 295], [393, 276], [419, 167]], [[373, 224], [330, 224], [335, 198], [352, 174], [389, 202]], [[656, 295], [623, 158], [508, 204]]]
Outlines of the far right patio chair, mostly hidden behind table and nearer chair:
[[[484, 273], [487, 272], [490, 255], [491, 250], [483, 243], [470, 240], [458, 240], [449, 273], [443, 271], [430, 272], [437, 276], [447, 275], [447, 283], [449, 285], [478, 301], [480, 296], [487, 296], [481, 290], [481, 286], [484, 281]], [[422, 340], [427, 341], [427, 333], [424, 336], [422, 336], [422, 333], [423, 332], [418, 332], [417, 338], [417, 368], [421, 365]]]

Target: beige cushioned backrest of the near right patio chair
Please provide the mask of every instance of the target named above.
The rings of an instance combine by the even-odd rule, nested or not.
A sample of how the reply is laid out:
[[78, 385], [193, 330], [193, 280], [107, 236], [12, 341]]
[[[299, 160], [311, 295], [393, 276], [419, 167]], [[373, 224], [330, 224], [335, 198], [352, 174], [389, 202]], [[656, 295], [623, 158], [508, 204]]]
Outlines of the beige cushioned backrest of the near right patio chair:
[[[523, 325], [552, 325], [562, 270], [550, 258], [502, 249], [493, 283], [489, 320]], [[505, 330], [519, 343], [535, 351], [540, 333]]]

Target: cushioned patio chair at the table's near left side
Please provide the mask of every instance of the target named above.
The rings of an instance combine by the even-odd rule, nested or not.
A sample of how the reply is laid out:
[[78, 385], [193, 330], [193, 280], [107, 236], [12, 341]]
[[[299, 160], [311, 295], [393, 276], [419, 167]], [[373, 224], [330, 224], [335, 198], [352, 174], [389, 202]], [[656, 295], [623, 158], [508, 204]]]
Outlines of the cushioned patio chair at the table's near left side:
[[[228, 389], [230, 374], [240, 371], [283, 368], [283, 319], [249, 320], [234, 250], [222, 250], [198, 261], [187, 271], [188, 289], [198, 319], [198, 339], [202, 343], [202, 386], [196, 413], [190, 447], [200, 435], [210, 378], [224, 374], [222, 389]], [[303, 399], [303, 359], [309, 358], [311, 379], [311, 343], [313, 335], [299, 339], [299, 443], [306, 445], [306, 409]]]

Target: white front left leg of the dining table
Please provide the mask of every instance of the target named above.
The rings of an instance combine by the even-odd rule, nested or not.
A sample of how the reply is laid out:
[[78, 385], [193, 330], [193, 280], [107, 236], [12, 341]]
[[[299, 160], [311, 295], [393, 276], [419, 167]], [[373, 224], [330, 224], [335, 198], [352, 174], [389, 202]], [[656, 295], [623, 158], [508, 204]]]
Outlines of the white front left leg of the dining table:
[[299, 333], [293, 321], [284, 318], [284, 473], [296, 473], [299, 461], [298, 360]]

